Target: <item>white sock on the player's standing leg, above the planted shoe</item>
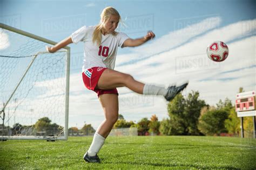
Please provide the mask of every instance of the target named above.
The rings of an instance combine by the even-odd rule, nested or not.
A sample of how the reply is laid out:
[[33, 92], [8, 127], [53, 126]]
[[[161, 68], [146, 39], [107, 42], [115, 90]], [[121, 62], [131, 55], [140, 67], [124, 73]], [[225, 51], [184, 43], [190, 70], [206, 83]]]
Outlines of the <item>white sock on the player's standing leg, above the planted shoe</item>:
[[94, 157], [99, 152], [100, 148], [102, 148], [104, 141], [105, 141], [105, 138], [101, 136], [99, 133], [95, 132], [93, 136], [92, 144], [89, 150], [87, 151], [88, 155], [90, 157]]

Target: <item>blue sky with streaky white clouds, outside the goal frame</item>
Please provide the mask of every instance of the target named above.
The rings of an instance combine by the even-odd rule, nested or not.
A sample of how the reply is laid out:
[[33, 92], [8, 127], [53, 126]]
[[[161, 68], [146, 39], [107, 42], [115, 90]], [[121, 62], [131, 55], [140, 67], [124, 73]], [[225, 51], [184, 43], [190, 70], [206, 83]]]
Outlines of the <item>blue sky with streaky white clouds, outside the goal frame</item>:
[[[117, 70], [163, 86], [189, 79], [184, 95], [199, 90], [201, 98], [210, 104], [226, 97], [234, 100], [240, 86], [255, 89], [255, 1], [2, 0], [0, 22], [57, 42], [83, 25], [96, 25], [106, 6], [119, 11], [127, 25], [119, 31], [131, 38], [142, 37], [147, 30], [156, 34], [156, 39], [141, 47], [120, 48]], [[205, 54], [208, 43], [214, 40], [225, 41], [230, 47], [230, 56], [223, 63], [213, 63]], [[70, 47], [70, 126], [81, 127], [86, 122], [97, 128], [104, 117], [97, 96], [86, 90], [80, 79], [83, 44]], [[236, 61], [244, 57], [244, 65], [239, 65]], [[182, 69], [180, 64], [189, 59], [202, 60]], [[201, 61], [203, 65], [199, 65]], [[213, 86], [220, 90], [214, 91]], [[167, 117], [162, 98], [138, 96], [124, 88], [119, 94], [120, 114], [128, 120], [139, 121], [152, 114], [159, 119]]]

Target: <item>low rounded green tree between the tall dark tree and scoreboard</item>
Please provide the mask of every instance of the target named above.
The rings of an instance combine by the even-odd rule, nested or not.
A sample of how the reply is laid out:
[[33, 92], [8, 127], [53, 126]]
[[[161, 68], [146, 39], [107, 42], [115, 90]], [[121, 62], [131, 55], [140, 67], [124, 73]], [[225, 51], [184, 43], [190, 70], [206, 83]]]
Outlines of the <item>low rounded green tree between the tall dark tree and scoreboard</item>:
[[201, 115], [199, 118], [198, 129], [205, 135], [220, 134], [227, 132], [225, 120], [228, 113], [225, 110], [211, 110]]

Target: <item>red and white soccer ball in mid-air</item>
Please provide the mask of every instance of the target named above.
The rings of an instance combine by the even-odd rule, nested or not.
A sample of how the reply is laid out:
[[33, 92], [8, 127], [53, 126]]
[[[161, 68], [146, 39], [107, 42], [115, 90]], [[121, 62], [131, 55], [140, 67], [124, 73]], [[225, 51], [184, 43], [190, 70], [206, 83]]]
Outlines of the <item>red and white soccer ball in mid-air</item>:
[[213, 61], [224, 61], [228, 56], [228, 47], [222, 41], [214, 41], [207, 47], [207, 55]]

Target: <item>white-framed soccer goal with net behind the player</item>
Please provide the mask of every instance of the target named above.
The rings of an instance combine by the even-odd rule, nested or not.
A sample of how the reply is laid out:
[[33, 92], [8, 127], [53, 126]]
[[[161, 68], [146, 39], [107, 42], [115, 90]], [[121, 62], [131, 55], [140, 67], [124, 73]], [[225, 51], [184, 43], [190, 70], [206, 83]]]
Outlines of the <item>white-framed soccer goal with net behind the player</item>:
[[0, 137], [68, 139], [70, 48], [0, 23]]

